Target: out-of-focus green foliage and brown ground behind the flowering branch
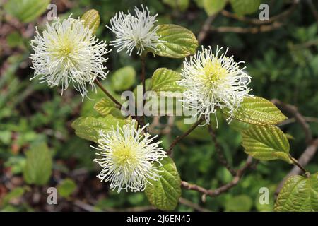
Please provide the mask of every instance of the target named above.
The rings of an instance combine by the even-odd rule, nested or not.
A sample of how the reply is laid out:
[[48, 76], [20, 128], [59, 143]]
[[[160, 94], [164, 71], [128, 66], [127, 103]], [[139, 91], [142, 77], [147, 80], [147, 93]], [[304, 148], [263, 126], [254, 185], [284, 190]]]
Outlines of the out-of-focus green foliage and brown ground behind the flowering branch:
[[[258, 2], [259, 1], [255, 0]], [[81, 101], [75, 90], [68, 89], [61, 96], [59, 88], [48, 88], [33, 77], [29, 59], [35, 26], [42, 30], [46, 22], [46, 8], [50, 1], [1, 0], [0, 3], [0, 210], [4, 211], [107, 211], [151, 210], [143, 193], [117, 194], [107, 184], [95, 178], [100, 167], [93, 163], [95, 152], [88, 141], [78, 138], [71, 122], [79, 116], [98, 113], [95, 102], [103, 94], [90, 93], [93, 100]], [[90, 8], [100, 13], [101, 23], [97, 36], [109, 42], [114, 37], [105, 28], [117, 11], [133, 11], [134, 6], [148, 6], [152, 14], [158, 13], [158, 23], [182, 25], [199, 35], [207, 18], [208, 1], [205, 0], [56, 0], [58, 16], [81, 16]], [[293, 7], [292, 1], [260, 1], [269, 4], [269, 16], [279, 15]], [[213, 7], [213, 6], [210, 6]], [[263, 32], [263, 25], [254, 25], [224, 13], [213, 18], [210, 30], [203, 40], [204, 46], [229, 47], [236, 61], [245, 61], [247, 73], [252, 76], [252, 93], [266, 99], [277, 98], [295, 105], [305, 117], [310, 117], [313, 136], [318, 135], [318, 18], [317, 1], [300, 1], [294, 10], [281, 20], [277, 28]], [[233, 12], [230, 4], [226, 11]], [[259, 18], [260, 10], [249, 13], [249, 18]], [[237, 12], [236, 12], [237, 13]], [[235, 14], [236, 15], [236, 14]], [[316, 18], [315, 18], [316, 16]], [[269, 23], [268, 25], [272, 25]], [[241, 28], [222, 30], [220, 28]], [[254, 28], [251, 29], [251, 28]], [[255, 32], [256, 28], [256, 32]], [[262, 27], [264, 28], [264, 27]], [[130, 90], [139, 84], [140, 61], [124, 52], [113, 50], [107, 68], [110, 74], [104, 84], [119, 97], [124, 88]], [[150, 78], [158, 67], [178, 70], [183, 59], [167, 59], [148, 55], [146, 74]], [[124, 66], [131, 66], [132, 69]], [[124, 71], [117, 71], [118, 69]], [[116, 72], [117, 71], [117, 72]], [[126, 86], [126, 87], [124, 87]], [[148, 119], [151, 122], [151, 119]], [[160, 123], [167, 124], [167, 117]], [[163, 147], [187, 126], [176, 117], [171, 129], [160, 134]], [[160, 131], [156, 128], [155, 131]], [[161, 128], [162, 129], [162, 128]], [[164, 129], [164, 128], [163, 128]], [[290, 140], [294, 157], [305, 150], [305, 134], [299, 124], [281, 126]], [[220, 122], [216, 131], [225, 157], [233, 167], [244, 164], [247, 155], [240, 146], [241, 137], [235, 130]], [[206, 128], [198, 128], [179, 143], [174, 150], [182, 180], [215, 189], [231, 181], [232, 176], [217, 160], [214, 145]], [[318, 156], [307, 165], [311, 172], [318, 171]], [[42, 163], [42, 164], [41, 164]], [[30, 165], [35, 165], [37, 175], [30, 175]], [[281, 161], [259, 162], [249, 170], [240, 183], [216, 198], [201, 200], [196, 191], [182, 189], [182, 197], [211, 211], [271, 211], [276, 186], [291, 169]], [[51, 169], [52, 168], [52, 169]], [[35, 177], [35, 179], [30, 179]], [[37, 180], [37, 185], [30, 181]], [[47, 188], [57, 187], [58, 205], [47, 205]], [[270, 191], [269, 205], [259, 204], [259, 189]], [[179, 203], [176, 210], [197, 210]]]

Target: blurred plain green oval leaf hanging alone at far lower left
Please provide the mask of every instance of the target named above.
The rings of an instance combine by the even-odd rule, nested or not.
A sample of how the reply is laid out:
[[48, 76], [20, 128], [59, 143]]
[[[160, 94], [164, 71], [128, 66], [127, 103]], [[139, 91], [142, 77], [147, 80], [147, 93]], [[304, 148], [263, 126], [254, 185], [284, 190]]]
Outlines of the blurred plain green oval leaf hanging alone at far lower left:
[[52, 156], [46, 143], [31, 145], [26, 153], [23, 177], [28, 184], [44, 185], [52, 174]]

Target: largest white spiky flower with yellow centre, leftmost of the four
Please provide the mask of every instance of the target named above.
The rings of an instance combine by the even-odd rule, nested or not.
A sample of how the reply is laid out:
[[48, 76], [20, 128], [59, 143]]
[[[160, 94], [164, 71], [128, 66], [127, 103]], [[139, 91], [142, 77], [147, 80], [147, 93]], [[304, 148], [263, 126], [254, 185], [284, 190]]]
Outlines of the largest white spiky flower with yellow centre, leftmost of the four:
[[[55, 19], [47, 23], [42, 36], [36, 29], [31, 41], [31, 54], [35, 77], [47, 82], [50, 87], [61, 85], [62, 93], [72, 83], [82, 97], [87, 95], [86, 83], [95, 89], [96, 78], [104, 79], [107, 61], [103, 57], [109, 52], [107, 44], [99, 41], [80, 19]], [[33, 79], [31, 78], [31, 79]]]

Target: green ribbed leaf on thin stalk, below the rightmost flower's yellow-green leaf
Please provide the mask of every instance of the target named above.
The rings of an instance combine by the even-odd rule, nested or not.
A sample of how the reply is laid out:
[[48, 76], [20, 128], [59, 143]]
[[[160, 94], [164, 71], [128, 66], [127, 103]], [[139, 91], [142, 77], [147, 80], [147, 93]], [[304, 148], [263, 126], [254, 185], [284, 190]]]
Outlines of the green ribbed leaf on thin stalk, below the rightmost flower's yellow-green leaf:
[[245, 153], [258, 160], [280, 159], [292, 163], [288, 139], [277, 126], [249, 126], [242, 131], [242, 146]]

